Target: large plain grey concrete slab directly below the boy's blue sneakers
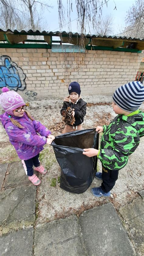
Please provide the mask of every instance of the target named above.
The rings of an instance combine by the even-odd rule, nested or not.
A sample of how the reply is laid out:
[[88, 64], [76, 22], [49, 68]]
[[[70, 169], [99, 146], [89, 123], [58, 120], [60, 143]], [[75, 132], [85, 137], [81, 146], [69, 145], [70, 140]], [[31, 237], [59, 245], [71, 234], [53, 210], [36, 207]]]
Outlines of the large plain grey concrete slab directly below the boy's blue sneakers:
[[136, 255], [111, 203], [84, 212], [79, 223], [88, 256]]

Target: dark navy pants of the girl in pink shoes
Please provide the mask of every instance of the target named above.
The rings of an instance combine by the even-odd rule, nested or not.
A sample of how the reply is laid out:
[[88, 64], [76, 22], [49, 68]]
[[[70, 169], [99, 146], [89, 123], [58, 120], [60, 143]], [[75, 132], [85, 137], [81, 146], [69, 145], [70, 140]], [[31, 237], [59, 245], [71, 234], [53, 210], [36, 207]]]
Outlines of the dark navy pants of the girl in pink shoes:
[[28, 160], [24, 160], [26, 164], [26, 169], [27, 169], [27, 175], [32, 176], [33, 175], [33, 165], [35, 167], [38, 167], [40, 162], [39, 162], [39, 154], [36, 155], [35, 157], [32, 157]]

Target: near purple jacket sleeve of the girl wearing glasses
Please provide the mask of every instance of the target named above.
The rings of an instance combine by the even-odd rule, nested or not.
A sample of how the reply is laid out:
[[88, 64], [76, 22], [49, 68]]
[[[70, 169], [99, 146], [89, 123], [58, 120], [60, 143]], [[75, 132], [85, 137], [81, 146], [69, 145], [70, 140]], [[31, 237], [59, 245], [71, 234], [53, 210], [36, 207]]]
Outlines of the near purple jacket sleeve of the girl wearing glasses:
[[9, 136], [10, 141], [18, 141], [27, 145], [38, 147], [44, 146], [46, 144], [46, 137], [26, 133], [17, 126], [8, 126], [5, 127], [5, 130]]

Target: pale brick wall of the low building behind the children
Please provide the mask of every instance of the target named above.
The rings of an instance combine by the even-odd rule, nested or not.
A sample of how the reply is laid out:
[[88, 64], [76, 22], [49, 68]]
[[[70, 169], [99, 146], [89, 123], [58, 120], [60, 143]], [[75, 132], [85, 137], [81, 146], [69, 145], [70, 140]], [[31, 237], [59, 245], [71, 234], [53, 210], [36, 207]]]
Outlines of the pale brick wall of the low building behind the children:
[[18, 90], [25, 99], [63, 98], [71, 81], [80, 83], [81, 95], [110, 95], [120, 85], [135, 80], [142, 59], [139, 53], [103, 50], [77, 54], [1, 48], [2, 55], [10, 57], [12, 65], [26, 74], [26, 87]]

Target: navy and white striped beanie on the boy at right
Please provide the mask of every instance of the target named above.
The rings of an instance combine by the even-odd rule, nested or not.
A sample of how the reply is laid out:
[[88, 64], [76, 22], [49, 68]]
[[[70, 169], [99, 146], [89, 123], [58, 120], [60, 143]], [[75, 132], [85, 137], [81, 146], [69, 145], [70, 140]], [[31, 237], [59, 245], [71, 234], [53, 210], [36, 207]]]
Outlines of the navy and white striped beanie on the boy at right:
[[113, 94], [113, 101], [123, 110], [134, 112], [144, 101], [144, 87], [141, 82], [133, 81], [122, 85]]

